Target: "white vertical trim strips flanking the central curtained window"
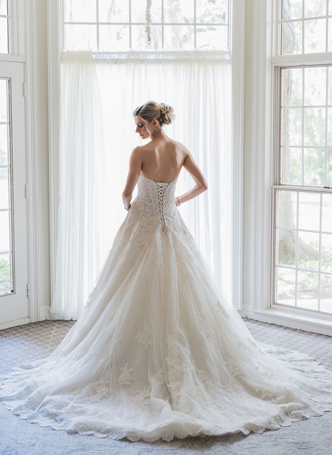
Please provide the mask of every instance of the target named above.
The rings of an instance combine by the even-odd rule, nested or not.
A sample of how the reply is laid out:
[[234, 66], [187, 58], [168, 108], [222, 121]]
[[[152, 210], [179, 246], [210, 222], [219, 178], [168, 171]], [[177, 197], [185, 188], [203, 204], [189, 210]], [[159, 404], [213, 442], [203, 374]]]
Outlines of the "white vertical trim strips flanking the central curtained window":
[[[243, 199], [243, 79], [244, 79], [244, 8], [242, 0], [231, 1], [236, 11], [232, 22], [232, 303], [242, 310], [242, 199]], [[230, 12], [231, 15], [231, 12]], [[230, 16], [232, 17], [232, 16]], [[50, 250], [51, 289], [55, 277], [56, 208], [55, 192], [58, 176], [59, 148], [59, 99], [60, 99], [60, 57], [63, 43], [60, 19], [63, 18], [62, 2], [48, 0], [48, 90], [49, 90], [49, 176], [50, 176]]]

